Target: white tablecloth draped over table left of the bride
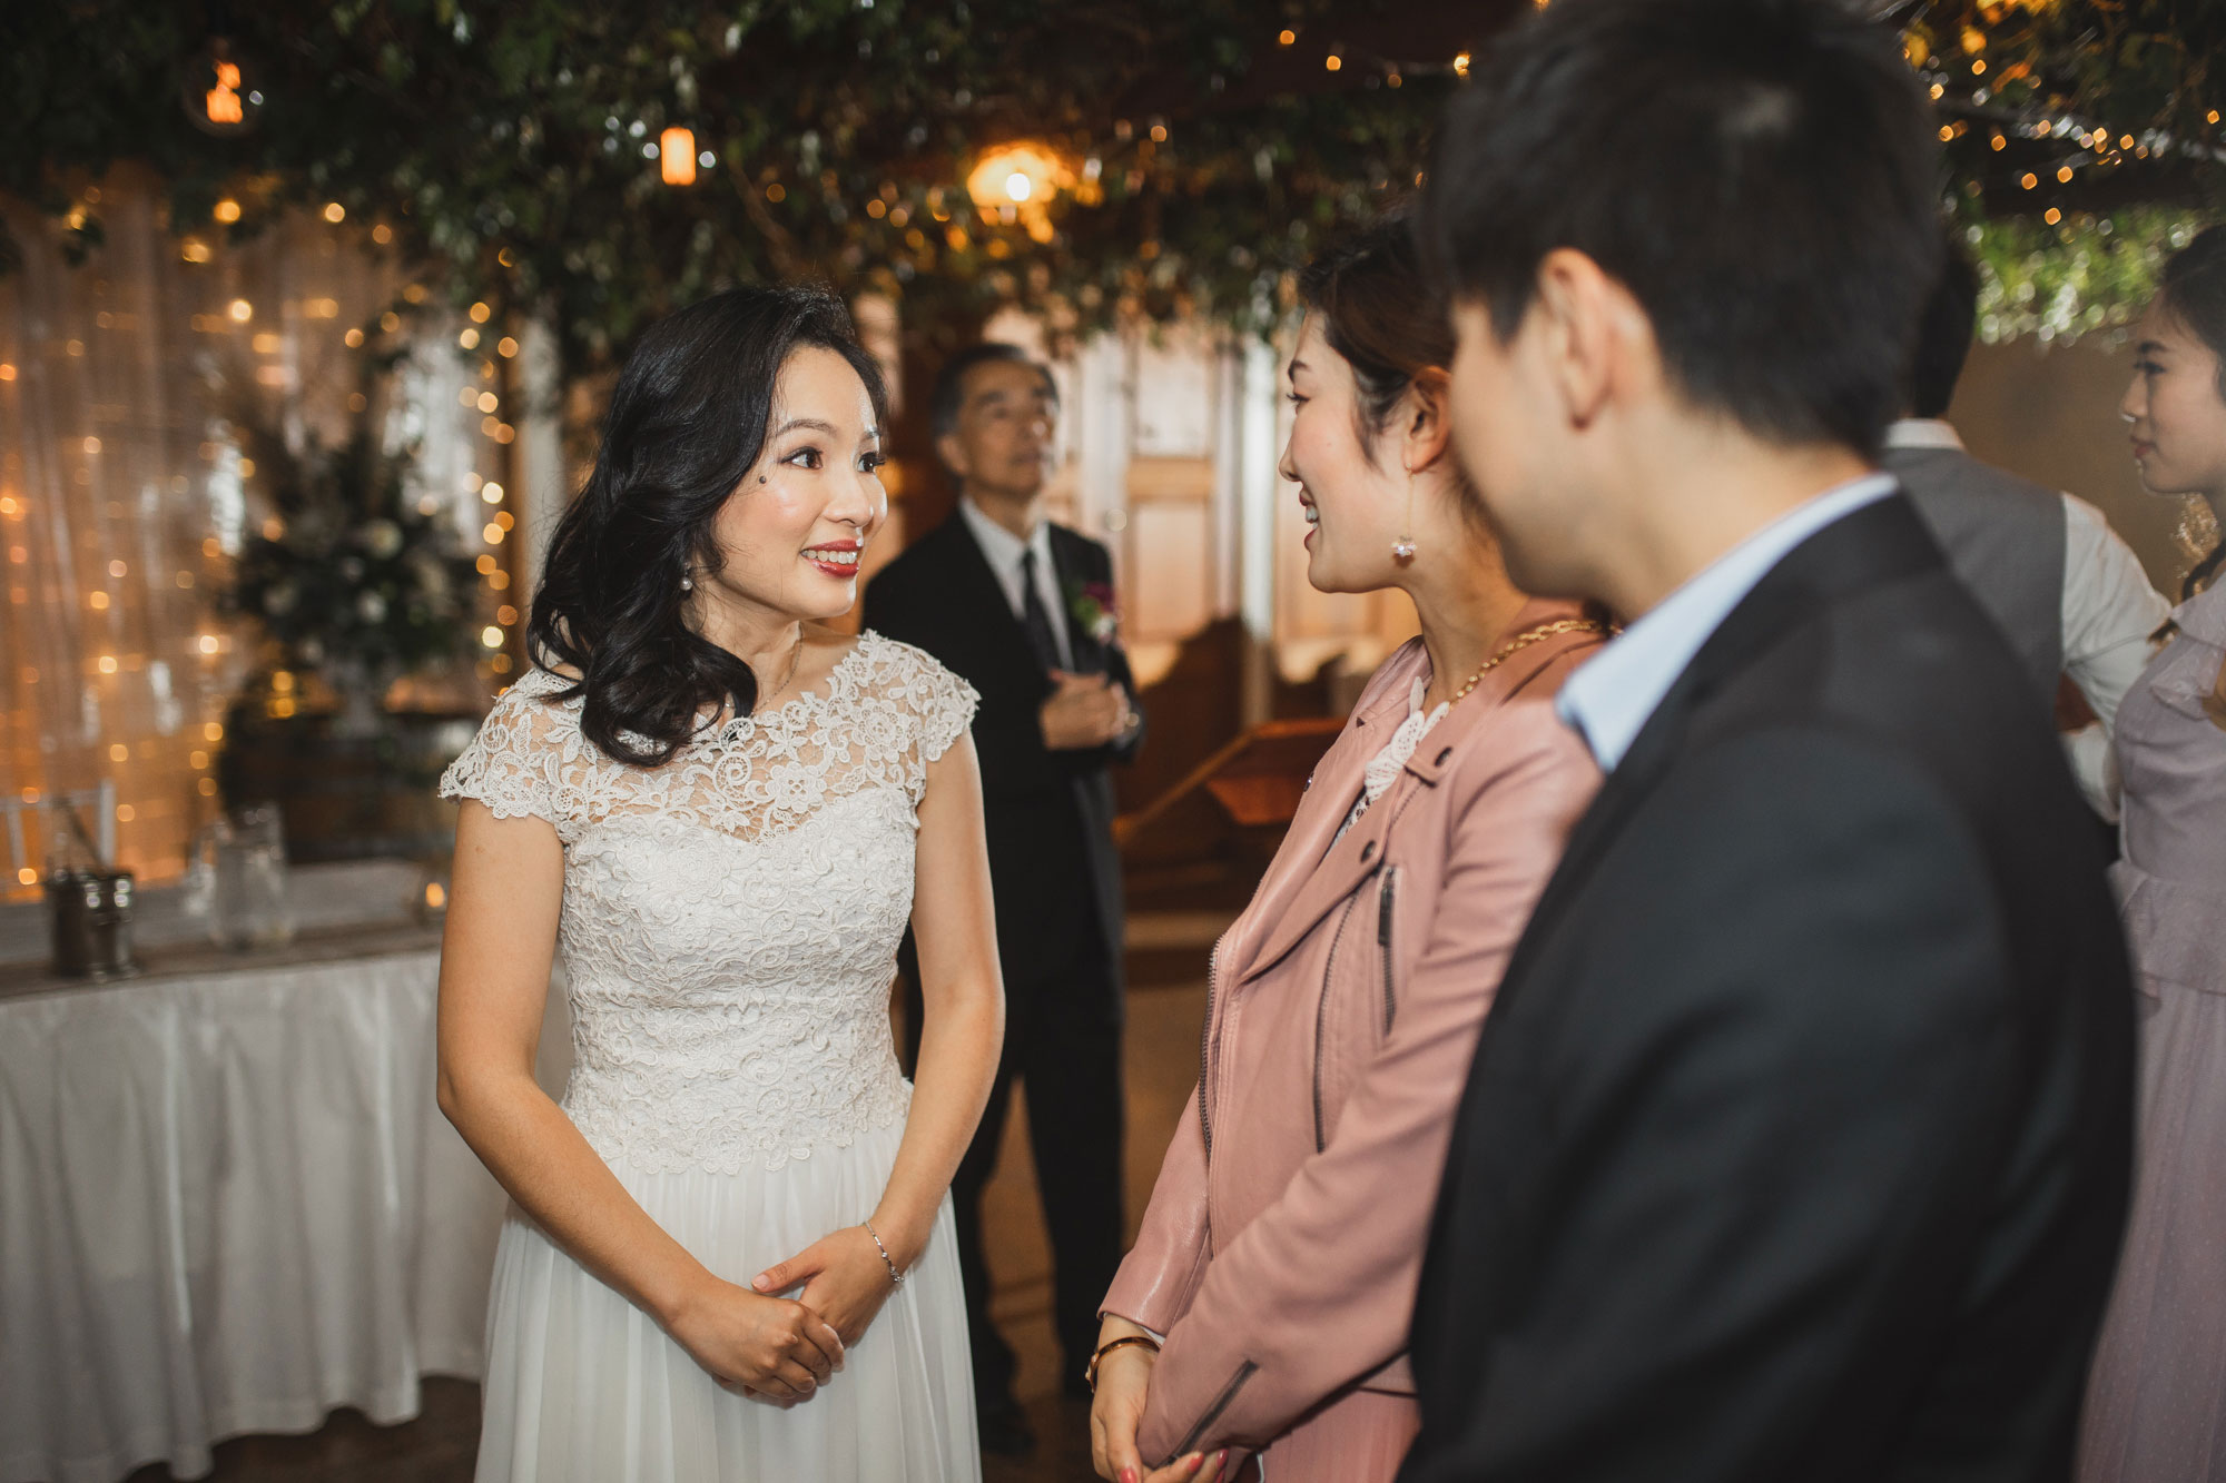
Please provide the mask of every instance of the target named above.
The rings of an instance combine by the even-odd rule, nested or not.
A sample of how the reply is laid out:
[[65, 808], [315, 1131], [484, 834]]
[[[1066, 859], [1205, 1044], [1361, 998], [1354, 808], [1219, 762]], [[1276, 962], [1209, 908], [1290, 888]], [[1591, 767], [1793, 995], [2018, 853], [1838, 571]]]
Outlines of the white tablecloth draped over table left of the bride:
[[503, 1194], [403, 942], [0, 998], [0, 1483], [198, 1476], [479, 1374]]

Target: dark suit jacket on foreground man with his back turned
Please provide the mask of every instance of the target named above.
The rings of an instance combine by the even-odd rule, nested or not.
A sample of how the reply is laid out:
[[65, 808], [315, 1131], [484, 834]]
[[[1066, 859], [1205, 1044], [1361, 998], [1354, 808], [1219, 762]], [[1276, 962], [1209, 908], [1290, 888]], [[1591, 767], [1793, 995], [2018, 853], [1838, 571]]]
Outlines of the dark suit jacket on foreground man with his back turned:
[[1787, 554], [1503, 980], [1402, 1483], [2066, 1479], [2130, 1160], [2101, 871], [1908, 501]]

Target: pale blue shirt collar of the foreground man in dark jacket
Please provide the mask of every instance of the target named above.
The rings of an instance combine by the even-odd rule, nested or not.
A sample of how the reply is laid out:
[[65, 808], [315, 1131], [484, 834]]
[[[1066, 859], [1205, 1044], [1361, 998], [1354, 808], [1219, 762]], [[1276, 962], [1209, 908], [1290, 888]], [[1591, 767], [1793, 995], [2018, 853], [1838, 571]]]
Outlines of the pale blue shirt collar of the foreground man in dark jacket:
[[1560, 719], [1585, 737], [1600, 770], [1616, 770], [1670, 686], [1770, 568], [1825, 526], [1897, 488], [1892, 474], [1865, 474], [1787, 510], [1690, 577], [1569, 675], [1554, 704]]

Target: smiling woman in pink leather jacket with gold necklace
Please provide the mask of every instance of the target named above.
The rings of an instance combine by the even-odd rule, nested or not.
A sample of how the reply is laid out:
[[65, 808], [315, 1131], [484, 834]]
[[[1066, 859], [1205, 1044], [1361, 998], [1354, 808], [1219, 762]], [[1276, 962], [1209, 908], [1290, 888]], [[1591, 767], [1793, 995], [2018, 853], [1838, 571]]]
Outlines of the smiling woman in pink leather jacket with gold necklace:
[[1598, 770], [1554, 715], [1603, 641], [1500, 566], [1445, 423], [1451, 330], [1389, 220], [1313, 263], [1282, 456], [1307, 579], [1396, 586], [1369, 681], [1213, 955], [1200, 1084], [1104, 1300], [1091, 1412], [1120, 1483], [1391, 1479], [1407, 1327], [1476, 1031]]

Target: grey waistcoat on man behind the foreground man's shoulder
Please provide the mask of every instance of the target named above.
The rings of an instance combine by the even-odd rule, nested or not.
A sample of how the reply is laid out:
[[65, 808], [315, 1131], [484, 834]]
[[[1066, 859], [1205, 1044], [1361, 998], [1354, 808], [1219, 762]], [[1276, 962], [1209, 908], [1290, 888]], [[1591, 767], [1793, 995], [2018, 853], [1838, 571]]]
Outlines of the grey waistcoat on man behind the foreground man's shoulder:
[[2055, 699], [2064, 675], [2064, 497], [1957, 448], [1888, 448], [1881, 463], [2032, 684]]

